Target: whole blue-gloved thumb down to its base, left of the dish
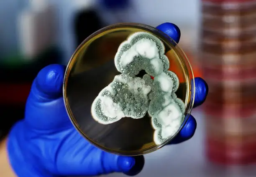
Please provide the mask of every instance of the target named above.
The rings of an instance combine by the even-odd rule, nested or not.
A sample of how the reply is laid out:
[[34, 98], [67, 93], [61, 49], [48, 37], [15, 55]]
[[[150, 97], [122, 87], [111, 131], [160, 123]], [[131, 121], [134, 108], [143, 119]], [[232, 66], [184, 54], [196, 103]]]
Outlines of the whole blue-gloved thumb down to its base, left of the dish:
[[62, 97], [64, 72], [64, 65], [49, 65], [33, 81], [25, 120], [36, 130], [56, 131], [72, 126]]

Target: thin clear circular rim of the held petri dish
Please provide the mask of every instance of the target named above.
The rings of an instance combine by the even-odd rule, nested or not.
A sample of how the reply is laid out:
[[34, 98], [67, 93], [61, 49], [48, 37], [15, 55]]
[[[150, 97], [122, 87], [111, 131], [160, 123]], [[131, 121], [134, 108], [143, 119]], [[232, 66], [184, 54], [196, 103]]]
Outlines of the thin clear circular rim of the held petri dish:
[[[182, 62], [182, 64], [184, 65], [185, 68], [187, 68], [189, 74], [191, 76], [185, 75], [186, 77], [186, 82], [190, 82], [191, 87], [189, 87], [189, 85], [187, 85], [187, 90], [190, 90], [191, 92], [191, 99], [190, 102], [187, 105], [187, 109], [186, 109], [186, 115], [184, 117], [184, 121], [182, 123], [182, 125], [180, 126], [179, 130], [176, 132], [176, 134], [169, 140], [167, 140], [166, 142], [162, 143], [161, 145], [157, 145], [155, 147], [148, 147], [146, 149], [144, 149], [143, 151], [141, 150], [135, 150], [135, 151], [117, 151], [117, 150], [110, 150], [108, 148], [102, 147], [100, 145], [98, 145], [97, 143], [94, 142], [94, 140], [91, 140], [89, 137], [87, 137], [87, 135], [84, 134], [84, 132], [82, 132], [82, 130], [79, 128], [76, 119], [74, 118], [74, 115], [72, 114], [71, 108], [69, 107], [69, 102], [67, 100], [67, 93], [66, 93], [66, 87], [67, 87], [67, 81], [68, 81], [68, 76], [69, 73], [71, 71], [70, 66], [72, 66], [72, 64], [75, 62], [74, 58], [78, 55], [78, 53], [80, 52], [82, 46], [88, 41], [90, 40], [92, 37], [94, 37], [95, 35], [99, 35], [100, 33], [107, 31], [107, 30], [112, 30], [115, 28], [119, 28], [119, 27], [141, 27], [142, 29], [148, 31], [153, 31], [155, 33], [159, 33], [161, 34], [161, 38], [163, 38], [162, 40], [170, 40], [170, 42], [173, 43], [173, 45], [175, 46], [176, 50], [179, 51], [179, 54], [182, 55], [184, 61], [179, 61]], [[189, 97], [188, 95], [186, 96]], [[177, 45], [177, 43], [168, 35], [166, 35], [164, 32], [162, 32], [161, 30], [156, 29], [155, 27], [152, 27], [150, 25], [145, 25], [142, 23], [116, 23], [114, 25], [109, 25], [106, 27], [101, 28], [100, 30], [97, 30], [96, 32], [92, 33], [89, 37], [87, 37], [78, 47], [77, 49], [74, 51], [72, 57], [70, 58], [68, 64], [67, 64], [67, 68], [64, 74], [64, 80], [63, 80], [63, 100], [64, 100], [64, 105], [65, 105], [65, 109], [67, 111], [67, 114], [69, 116], [70, 121], [72, 122], [73, 126], [75, 127], [75, 129], [87, 140], [89, 141], [92, 145], [94, 145], [95, 147], [100, 148], [101, 150], [105, 151], [105, 152], [110, 152], [112, 154], [116, 154], [116, 155], [123, 155], [123, 156], [138, 156], [138, 155], [145, 155], [151, 152], [154, 152], [156, 150], [159, 150], [161, 147], [164, 147], [165, 145], [169, 144], [176, 136], [177, 134], [180, 132], [180, 130], [182, 130], [182, 128], [184, 127], [184, 125], [186, 124], [190, 113], [192, 111], [193, 105], [194, 105], [194, 100], [195, 100], [195, 78], [194, 78], [194, 74], [192, 71], [192, 67], [190, 65], [190, 62], [186, 56], [186, 54], [184, 53], [184, 51]]]

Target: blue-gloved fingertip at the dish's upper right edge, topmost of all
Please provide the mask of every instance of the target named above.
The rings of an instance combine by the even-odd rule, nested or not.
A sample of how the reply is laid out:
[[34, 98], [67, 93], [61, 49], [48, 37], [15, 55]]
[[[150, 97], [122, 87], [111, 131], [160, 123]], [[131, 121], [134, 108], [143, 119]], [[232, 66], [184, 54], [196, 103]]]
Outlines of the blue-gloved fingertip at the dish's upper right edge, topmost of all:
[[166, 23], [162, 23], [156, 28], [164, 32], [166, 35], [169, 35], [169, 37], [171, 37], [176, 43], [179, 43], [180, 30], [179, 30], [179, 27], [177, 27], [177, 25], [166, 22]]

